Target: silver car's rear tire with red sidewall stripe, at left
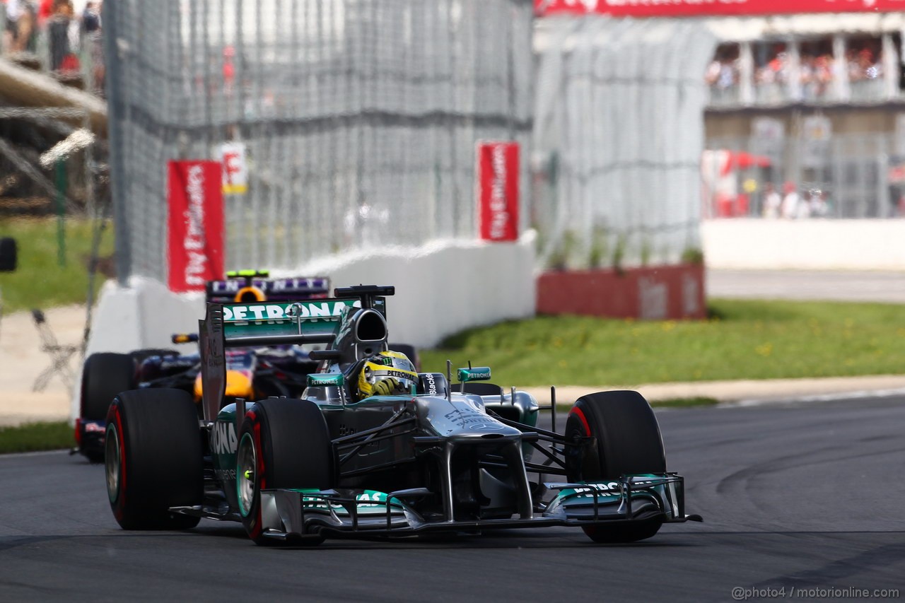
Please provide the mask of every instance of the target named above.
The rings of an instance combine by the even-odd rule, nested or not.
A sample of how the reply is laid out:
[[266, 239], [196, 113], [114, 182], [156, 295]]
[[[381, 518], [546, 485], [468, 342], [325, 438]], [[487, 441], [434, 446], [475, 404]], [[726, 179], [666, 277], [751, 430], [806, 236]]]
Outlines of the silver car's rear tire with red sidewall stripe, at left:
[[124, 530], [186, 530], [198, 517], [170, 507], [201, 504], [204, 449], [195, 401], [180, 389], [136, 389], [107, 414], [107, 494]]

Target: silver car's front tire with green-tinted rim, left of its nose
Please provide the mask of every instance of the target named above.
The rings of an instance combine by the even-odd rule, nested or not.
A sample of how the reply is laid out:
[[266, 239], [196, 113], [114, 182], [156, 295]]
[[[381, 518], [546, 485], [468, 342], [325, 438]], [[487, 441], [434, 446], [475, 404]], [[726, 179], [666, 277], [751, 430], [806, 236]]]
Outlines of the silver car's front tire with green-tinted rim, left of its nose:
[[268, 398], [245, 413], [236, 452], [236, 494], [245, 531], [255, 544], [316, 545], [310, 534], [289, 541], [264, 535], [261, 491], [274, 488], [324, 490], [335, 485], [327, 422], [309, 400]]

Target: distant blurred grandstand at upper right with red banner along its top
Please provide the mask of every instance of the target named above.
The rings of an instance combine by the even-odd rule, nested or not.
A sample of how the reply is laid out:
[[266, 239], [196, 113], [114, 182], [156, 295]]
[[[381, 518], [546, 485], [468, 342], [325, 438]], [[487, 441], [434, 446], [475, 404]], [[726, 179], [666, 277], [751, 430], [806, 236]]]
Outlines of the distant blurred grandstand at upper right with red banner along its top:
[[[710, 36], [695, 68], [706, 86], [705, 219], [763, 215], [770, 187], [819, 197], [823, 217], [905, 215], [903, 11], [901, 0], [536, 2], [551, 21], [646, 21]], [[656, 76], [656, 61], [640, 65], [641, 77]]]

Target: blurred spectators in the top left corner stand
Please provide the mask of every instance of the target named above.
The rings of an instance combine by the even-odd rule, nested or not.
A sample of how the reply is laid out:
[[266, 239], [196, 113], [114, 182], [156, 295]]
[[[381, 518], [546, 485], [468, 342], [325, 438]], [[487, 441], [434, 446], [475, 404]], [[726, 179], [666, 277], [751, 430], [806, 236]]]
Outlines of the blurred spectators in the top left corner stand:
[[72, 0], [0, 0], [5, 54], [46, 53], [47, 68], [77, 74], [90, 63], [93, 87], [103, 90], [100, 2], [86, 2], [76, 14]]

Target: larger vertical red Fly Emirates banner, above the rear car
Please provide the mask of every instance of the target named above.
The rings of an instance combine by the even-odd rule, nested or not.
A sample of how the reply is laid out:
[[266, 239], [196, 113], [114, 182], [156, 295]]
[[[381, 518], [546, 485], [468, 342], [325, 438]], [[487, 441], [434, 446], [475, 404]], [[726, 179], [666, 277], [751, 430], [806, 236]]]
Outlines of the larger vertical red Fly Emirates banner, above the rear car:
[[223, 166], [219, 161], [169, 162], [169, 288], [205, 291], [224, 273]]

